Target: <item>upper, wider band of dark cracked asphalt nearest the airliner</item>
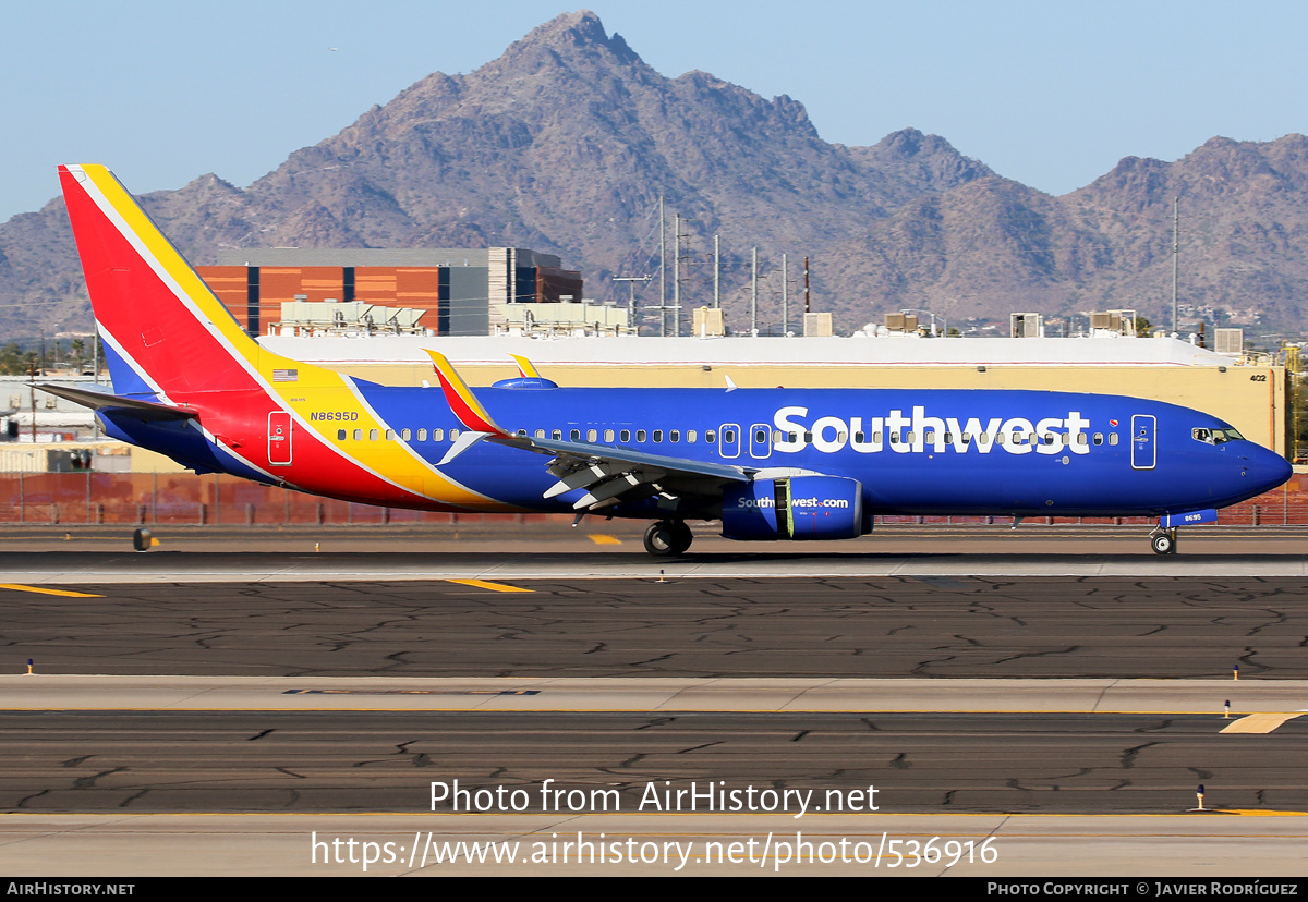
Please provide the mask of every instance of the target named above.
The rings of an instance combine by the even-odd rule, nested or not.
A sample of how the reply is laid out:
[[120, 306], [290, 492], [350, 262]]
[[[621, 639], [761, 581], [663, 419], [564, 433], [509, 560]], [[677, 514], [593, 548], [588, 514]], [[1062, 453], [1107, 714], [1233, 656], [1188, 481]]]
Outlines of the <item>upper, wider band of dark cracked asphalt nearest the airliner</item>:
[[230, 556], [222, 583], [5, 583], [7, 671], [1308, 678], [1308, 587], [1284, 576], [245, 582], [252, 566]]

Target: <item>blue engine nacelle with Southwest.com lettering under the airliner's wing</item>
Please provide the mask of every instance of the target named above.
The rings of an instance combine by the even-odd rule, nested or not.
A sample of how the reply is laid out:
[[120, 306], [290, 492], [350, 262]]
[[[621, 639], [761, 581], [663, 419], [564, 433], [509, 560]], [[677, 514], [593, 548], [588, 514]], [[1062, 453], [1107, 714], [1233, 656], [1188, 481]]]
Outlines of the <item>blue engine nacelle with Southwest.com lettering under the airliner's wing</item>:
[[857, 539], [863, 532], [863, 486], [858, 480], [793, 476], [743, 482], [722, 493], [726, 539]]

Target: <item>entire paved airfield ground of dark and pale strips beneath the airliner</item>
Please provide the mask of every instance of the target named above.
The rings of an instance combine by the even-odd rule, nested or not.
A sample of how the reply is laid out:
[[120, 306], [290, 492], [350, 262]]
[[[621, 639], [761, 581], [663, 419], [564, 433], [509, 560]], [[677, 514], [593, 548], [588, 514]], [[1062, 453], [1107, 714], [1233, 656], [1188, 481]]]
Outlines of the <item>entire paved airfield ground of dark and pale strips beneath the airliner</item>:
[[[781, 818], [791, 839], [999, 843], [997, 861], [920, 861], [921, 876], [1303, 873], [1303, 556], [1288, 539], [1175, 558], [1065, 541], [663, 563], [586, 548], [10, 550], [0, 864], [169, 873], [204, 842], [215, 873], [336, 876], [362, 871], [314, 863], [314, 831], [416, 847], [424, 831], [566, 829], [693, 838], [700, 854], [713, 837], [780, 838]], [[433, 812], [430, 783], [455, 779], [612, 790], [620, 808]], [[650, 784], [712, 783], [842, 799], [876, 786], [886, 804], [798, 820], [641, 809]], [[1227, 813], [1185, 813], [1199, 783]], [[884, 847], [880, 864], [782, 863], [777, 847], [764, 864], [710, 859], [697, 872], [893, 860]]]

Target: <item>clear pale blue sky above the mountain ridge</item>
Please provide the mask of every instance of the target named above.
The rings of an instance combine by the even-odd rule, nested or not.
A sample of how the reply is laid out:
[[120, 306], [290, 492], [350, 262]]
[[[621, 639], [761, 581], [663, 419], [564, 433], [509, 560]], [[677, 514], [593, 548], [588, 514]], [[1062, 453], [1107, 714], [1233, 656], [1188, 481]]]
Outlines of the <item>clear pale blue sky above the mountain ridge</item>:
[[[1050, 193], [1125, 156], [1177, 159], [1214, 135], [1308, 131], [1304, 3], [589, 8], [663, 75], [704, 69], [764, 97], [789, 94], [828, 141], [875, 144], [912, 125]], [[373, 103], [430, 72], [470, 72], [569, 8], [3, 0], [0, 9], [3, 221], [55, 196], [60, 162], [106, 163], [136, 192], [211, 171], [250, 184]]]

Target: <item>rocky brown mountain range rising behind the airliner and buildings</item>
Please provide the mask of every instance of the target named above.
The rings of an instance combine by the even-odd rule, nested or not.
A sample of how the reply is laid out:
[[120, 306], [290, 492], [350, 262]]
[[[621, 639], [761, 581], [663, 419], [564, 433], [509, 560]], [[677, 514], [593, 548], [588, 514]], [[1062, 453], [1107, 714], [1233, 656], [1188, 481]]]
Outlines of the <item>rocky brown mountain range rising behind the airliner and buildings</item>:
[[[1053, 197], [916, 129], [828, 144], [789, 97], [705, 72], [668, 78], [594, 13], [560, 16], [466, 76], [434, 73], [249, 188], [204, 175], [144, 205], [194, 263], [218, 247], [532, 247], [587, 294], [657, 272], [658, 200], [684, 224], [683, 298], [710, 298], [721, 234], [729, 322], [748, 326], [747, 264], [777, 319], [780, 261], [812, 260], [814, 309], [848, 331], [900, 307], [964, 324], [1171, 309], [1172, 200], [1181, 298], [1269, 329], [1303, 327], [1308, 139], [1213, 139], [1185, 159], [1126, 158]], [[0, 333], [86, 328], [61, 203], [0, 225]], [[641, 298], [657, 303], [657, 286]], [[793, 301], [793, 310], [794, 301]], [[1188, 314], [1192, 319], [1196, 312]], [[793, 320], [791, 320], [793, 322]]]

